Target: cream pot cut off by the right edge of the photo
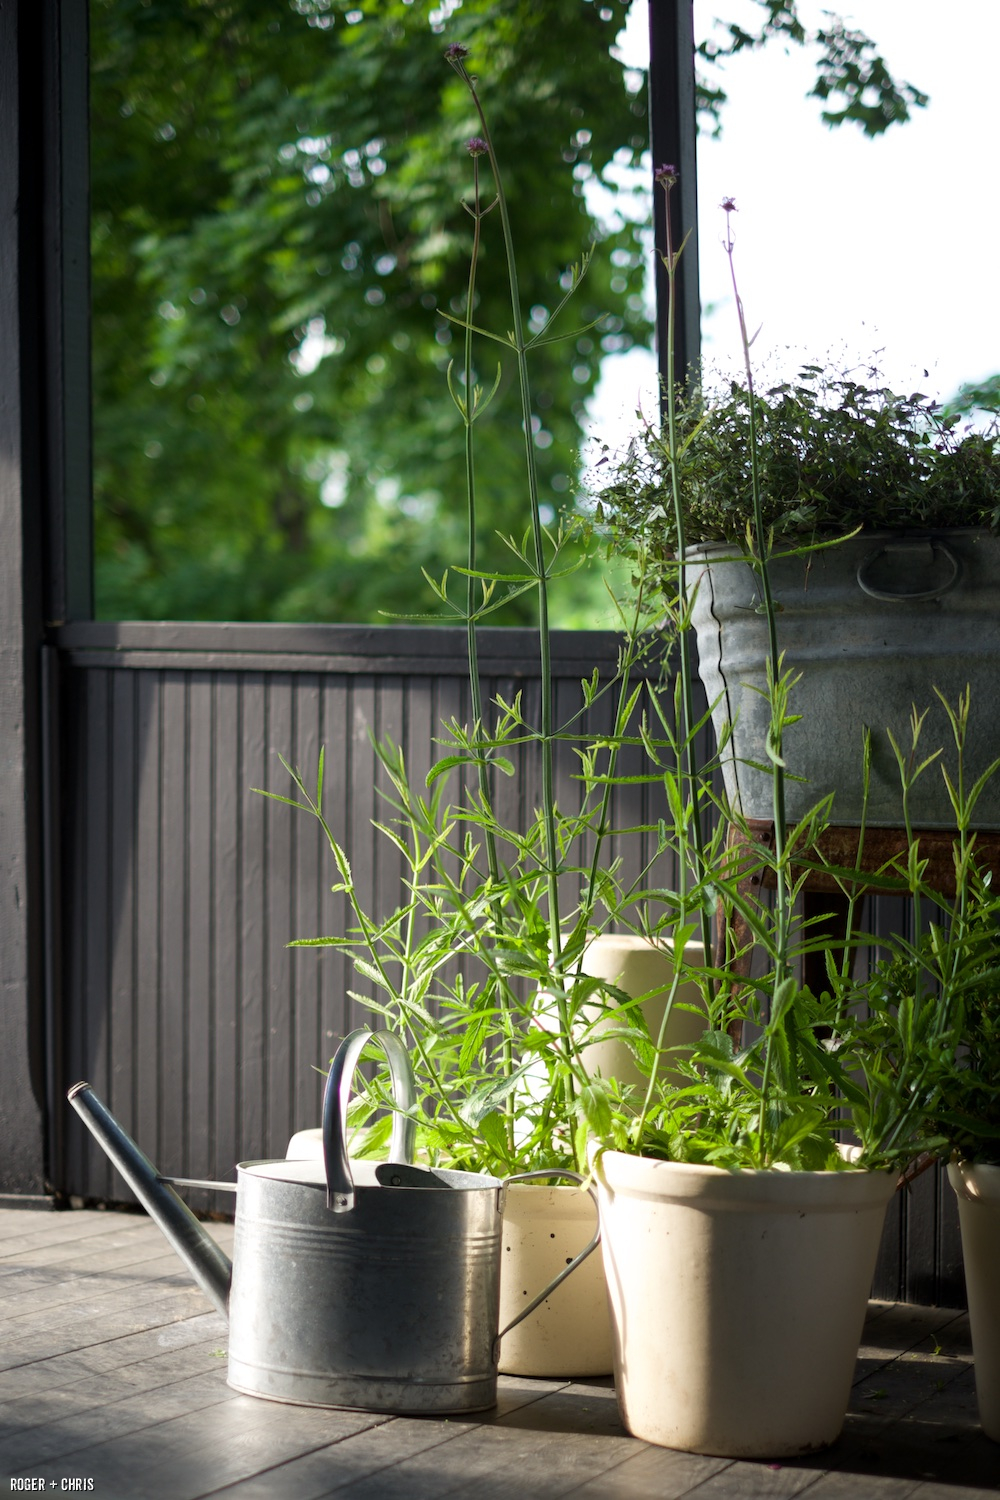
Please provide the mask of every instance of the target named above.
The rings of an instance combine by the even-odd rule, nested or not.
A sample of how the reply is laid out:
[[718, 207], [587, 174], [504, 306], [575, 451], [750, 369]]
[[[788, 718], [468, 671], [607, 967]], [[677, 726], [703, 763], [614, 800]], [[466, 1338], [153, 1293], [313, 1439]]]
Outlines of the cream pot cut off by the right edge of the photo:
[[979, 1420], [1000, 1443], [1000, 1167], [949, 1162], [948, 1178], [958, 1194]]

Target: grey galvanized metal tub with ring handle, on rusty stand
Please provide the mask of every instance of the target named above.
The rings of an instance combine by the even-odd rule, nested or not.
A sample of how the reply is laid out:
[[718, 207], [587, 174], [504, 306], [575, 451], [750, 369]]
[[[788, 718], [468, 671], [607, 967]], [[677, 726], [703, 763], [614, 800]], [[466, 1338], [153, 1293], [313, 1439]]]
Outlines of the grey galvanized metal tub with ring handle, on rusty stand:
[[[802, 716], [784, 736], [789, 820], [832, 794], [835, 825], [901, 826], [900, 768], [889, 735], [907, 754], [913, 710], [927, 710], [921, 759], [942, 753], [913, 788], [912, 826], [954, 826], [942, 768], [957, 780], [958, 764], [937, 693], [952, 706], [966, 688], [972, 693], [964, 754], [970, 788], [1000, 747], [1000, 538], [976, 528], [919, 536], [867, 531], [807, 556], [781, 556], [780, 544], [775, 554], [769, 574], [778, 646], [784, 669], [799, 675], [790, 711]], [[694, 554], [690, 586], [697, 586], [699, 670], [720, 740], [732, 726], [723, 752], [730, 806], [744, 818], [769, 819], [768, 626], [757, 574], [739, 549], [712, 544]], [[871, 730], [867, 814], [865, 728]], [[984, 789], [975, 825], [1000, 828], [1000, 778]]]

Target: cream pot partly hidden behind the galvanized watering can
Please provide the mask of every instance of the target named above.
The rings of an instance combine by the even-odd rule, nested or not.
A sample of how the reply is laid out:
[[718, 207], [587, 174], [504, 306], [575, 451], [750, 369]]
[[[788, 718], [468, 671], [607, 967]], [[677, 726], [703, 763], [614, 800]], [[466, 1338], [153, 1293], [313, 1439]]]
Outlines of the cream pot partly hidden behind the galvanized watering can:
[[[504, 1208], [499, 1326], [577, 1256], [594, 1234], [583, 1188], [514, 1182]], [[610, 1376], [612, 1329], [595, 1250], [523, 1323], [501, 1340], [504, 1376]]]

